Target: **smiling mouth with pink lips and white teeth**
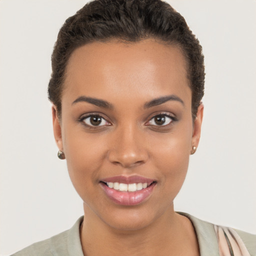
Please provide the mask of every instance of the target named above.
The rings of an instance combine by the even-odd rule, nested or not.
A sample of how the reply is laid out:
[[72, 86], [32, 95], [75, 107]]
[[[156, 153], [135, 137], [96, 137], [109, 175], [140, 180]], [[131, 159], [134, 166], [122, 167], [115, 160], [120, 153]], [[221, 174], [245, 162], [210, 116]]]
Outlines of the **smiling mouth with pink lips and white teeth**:
[[157, 182], [141, 176], [115, 176], [99, 183], [107, 197], [115, 203], [136, 205], [150, 197]]

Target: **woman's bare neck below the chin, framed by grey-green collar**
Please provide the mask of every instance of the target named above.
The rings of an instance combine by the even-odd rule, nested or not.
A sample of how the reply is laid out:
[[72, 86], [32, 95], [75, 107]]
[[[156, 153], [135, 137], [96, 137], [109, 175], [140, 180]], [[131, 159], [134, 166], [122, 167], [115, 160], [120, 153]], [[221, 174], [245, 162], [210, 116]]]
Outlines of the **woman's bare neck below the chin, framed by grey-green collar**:
[[[152, 223], [136, 230], [111, 227], [84, 205], [80, 239], [85, 256], [199, 255], [191, 222], [175, 213], [173, 205]], [[186, 253], [187, 248], [191, 252], [191, 246], [197, 254]]]

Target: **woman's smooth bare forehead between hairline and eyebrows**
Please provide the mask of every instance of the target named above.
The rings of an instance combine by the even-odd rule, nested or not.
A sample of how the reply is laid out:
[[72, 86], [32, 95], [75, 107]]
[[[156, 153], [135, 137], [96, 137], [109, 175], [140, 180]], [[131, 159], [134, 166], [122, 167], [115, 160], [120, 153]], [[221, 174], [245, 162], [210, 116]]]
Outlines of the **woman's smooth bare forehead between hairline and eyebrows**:
[[135, 97], [189, 94], [186, 61], [179, 47], [153, 39], [92, 42], [75, 49], [66, 67], [63, 96]]

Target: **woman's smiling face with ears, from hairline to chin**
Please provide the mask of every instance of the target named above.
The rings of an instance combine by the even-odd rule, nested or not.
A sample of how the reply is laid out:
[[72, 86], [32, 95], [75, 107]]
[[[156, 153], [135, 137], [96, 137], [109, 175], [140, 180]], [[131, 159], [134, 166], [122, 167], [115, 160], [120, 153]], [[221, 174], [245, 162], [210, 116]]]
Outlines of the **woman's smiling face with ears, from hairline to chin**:
[[202, 106], [193, 121], [188, 83], [175, 46], [147, 39], [74, 50], [53, 128], [93, 221], [133, 230], [173, 212], [200, 136]]

